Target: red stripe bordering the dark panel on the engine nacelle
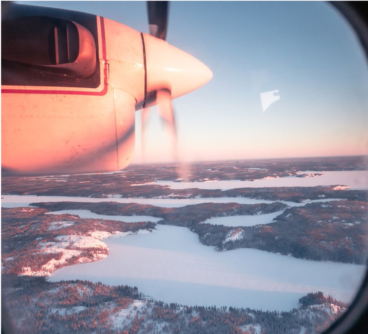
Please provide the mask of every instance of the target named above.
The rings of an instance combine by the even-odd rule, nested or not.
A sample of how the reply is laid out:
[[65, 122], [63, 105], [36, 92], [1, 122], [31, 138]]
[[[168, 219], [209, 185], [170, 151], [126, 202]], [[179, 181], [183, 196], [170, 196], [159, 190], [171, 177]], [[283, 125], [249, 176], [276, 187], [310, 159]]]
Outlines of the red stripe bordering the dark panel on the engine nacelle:
[[[103, 89], [100, 92], [85, 92], [81, 90], [42, 90], [42, 89], [1, 89], [1, 93], [16, 93], [16, 94], [57, 94], [57, 95], [95, 95], [103, 96], [107, 93], [107, 65], [106, 65], [106, 40], [105, 40], [105, 24], [103, 17], [100, 16], [101, 24], [101, 46], [102, 46], [102, 59], [104, 62], [103, 75], [101, 81], [103, 81]], [[100, 82], [101, 82], [100, 81]]]

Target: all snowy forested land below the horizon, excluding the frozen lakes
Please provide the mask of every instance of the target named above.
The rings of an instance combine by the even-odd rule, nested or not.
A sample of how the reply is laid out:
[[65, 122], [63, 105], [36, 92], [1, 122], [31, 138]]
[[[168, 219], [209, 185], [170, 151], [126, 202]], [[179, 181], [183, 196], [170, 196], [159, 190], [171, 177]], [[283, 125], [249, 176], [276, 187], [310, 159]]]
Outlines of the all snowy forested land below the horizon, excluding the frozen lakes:
[[[116, 202], [31, 203], [33, 207], [2, 208], [2, 308], [20, 334], [145, 334], [245, 333], [315, 334], [327, 328], [348, 307], [333, 296], [311, 291], [288, 312], [213, 305], [178, 305], [142, 296], [137, 287], [101, 282], [45, 278], [71, 264], [103, 259], [103, 238], [153, 231], [156, 223], [123, 223], [80, 218], [74, 214], [46, 214], [57, 210], [91, 210], [105, 215], [145, 215], [162, 218], [159, 224], [188, 227], [198, 240], [215, 251], [256, 248], [302, 259], [362, 264], [367, 259], [367, 192], [340, 186], [171, 189], [156, 180], [175, 182], [311, 177], [300, 171], [367, 170], [361, 156], [298, 159], [202, 161], [188, 165], [182, 179], [175, 164], [131, 165], [114, 174], [42, 177], [2, 177], [2, 193], [109, 198], [219, 198], [244, 197], [273, 203], [202, 203], [159, 207]], [[153, 182], [153, 183], [151, 183]], [[149, 183], [149, 184], [146, 184]], [[139, 186], [135, 186], [139, 185]], [[287, 206], [277, 201], [304, 203]], [[37, 198], [35, 198], [37, 200]], [[290, 203], [289, 203], [290, 204]], [[283, 211], [272, 222], [250, 227], [203, 223], [208, 218], [261, 215]], [[236, 237], [236, 238], [234, 238]], [[83, 242], [81, 242], [83, 241]], [[37, 276], [43, 277], [37, 277]], [[124, 284], [124, 282], [121, 282]], [[247, 301], [244, 301], [247, 305]]]

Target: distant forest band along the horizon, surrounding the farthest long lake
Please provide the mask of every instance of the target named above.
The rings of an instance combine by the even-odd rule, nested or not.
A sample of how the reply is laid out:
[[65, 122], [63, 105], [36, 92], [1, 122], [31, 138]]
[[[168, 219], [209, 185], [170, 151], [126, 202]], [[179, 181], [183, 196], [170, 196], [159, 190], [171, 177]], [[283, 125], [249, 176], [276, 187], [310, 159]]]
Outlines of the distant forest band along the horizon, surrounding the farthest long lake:
[[[301, 171], [362, 171], [367, 170], [364, 156], [308, 157], [289, 159], [254, 159], [230, 161], [199, 161], [182, 166], [188, 173], [181, 178], [174, 163], [133, 164], [113, 174], [53, 175], [15, 177], [2, 175], [3, 194], [79, 196], [92, 198], [219, 198], [247, 197], [263, 200], [284, 200], [300, 203], [319, 198], [367, 200], [364, 190], [343, 191], [336, 185], [315, 187], [267, 187], [238, 189], [171, 189], [155, 184], [157, 180], [204, 182], [218, 180], [254, 181], [263, 178], [301, 176]], [[318, 177], [318, 176], [316, 176]], [[132, 186], [134, 185], [134, 186]], [[139, 185], [139, 186], [137, 186]]]

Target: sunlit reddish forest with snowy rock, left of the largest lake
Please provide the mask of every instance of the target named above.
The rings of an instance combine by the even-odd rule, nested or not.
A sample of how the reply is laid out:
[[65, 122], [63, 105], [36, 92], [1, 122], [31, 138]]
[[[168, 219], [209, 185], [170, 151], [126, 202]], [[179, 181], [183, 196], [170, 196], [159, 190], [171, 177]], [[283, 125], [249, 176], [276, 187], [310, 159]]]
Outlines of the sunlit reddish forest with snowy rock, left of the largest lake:
[[[43, 208], [1, 208], [2, 273], [24, 274], [26, 270], [29, 274], [49, 275], [47, 271], [106, 257], [106, 245], [97, 239], [93, 242], [94, 238], [90, 237], [93, 231], [134, 233], [155, 228], [151, 222], [101, 221], [71, 214], [46, 215], [46, 212], [48, 210]], [[67, 239], [63, 244], [59, 236], [70, 236], [70, 241]], [[74, 236], [75, 243], [72, 242]], [[78, 246], [78, 238], [82, 236], [92, 240], [90, 247]], [[49, 245], [56, 247], [50, 248]], [[55, 265], [45, 269], [48, 263]]]

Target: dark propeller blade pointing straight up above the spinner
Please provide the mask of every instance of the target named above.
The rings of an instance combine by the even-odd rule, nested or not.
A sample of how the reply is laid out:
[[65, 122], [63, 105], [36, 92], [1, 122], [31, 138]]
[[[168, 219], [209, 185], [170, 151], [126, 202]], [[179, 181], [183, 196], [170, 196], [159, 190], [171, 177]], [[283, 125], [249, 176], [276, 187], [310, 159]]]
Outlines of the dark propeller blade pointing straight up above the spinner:
[[147, 1], [149, 33], [166, 40], [168, 1]]

